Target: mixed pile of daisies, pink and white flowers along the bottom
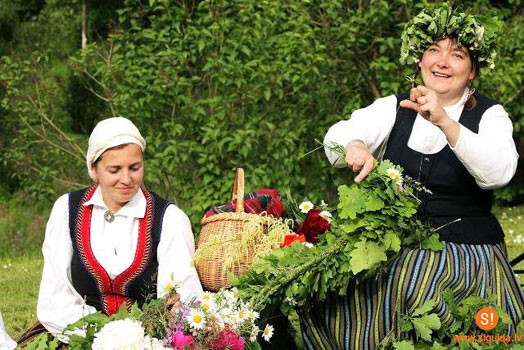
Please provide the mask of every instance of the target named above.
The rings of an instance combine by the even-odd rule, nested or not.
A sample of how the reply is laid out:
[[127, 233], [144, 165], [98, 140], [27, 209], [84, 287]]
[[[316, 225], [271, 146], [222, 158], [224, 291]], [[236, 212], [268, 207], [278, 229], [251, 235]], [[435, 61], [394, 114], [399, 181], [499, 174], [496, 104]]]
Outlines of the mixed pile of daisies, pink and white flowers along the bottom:
[[[168, 297], [176, 293], [169, 291]], [[255, 350], [259, 336], [269, 341], [273, 326], [257, 325], [258, 312], [238, 298], [238, 291], [206, 292], [201, 298], [171, 309], [164, 299], [125, 306], [107, 317], [97, 312], [69, 325], [64, 334], [70, 349], [95, 350]], [[44, 333], [28, 349], [57, 349], [56, 339]]]

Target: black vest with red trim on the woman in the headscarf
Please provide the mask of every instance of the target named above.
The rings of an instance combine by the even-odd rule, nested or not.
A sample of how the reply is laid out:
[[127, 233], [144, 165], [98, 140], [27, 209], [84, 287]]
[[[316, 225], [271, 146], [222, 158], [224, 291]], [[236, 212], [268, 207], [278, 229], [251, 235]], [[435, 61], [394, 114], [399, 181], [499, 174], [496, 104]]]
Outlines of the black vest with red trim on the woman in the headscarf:
[[91, 249], [91, 214], [85, 206], [97, 186], [69, 193], [69, 232], [73, 244], [71, 279], [73, 287], [86, 303], [112, 315], [125, 303], [128, 310], [148, 297], [156, 297], [157, 247], [162, 233], [162, 220], [169, 201], [141, 189], [146, 198], [146, 213], [139, 219], [138, 241], [131, 265], [114, 279], [96, 260]]

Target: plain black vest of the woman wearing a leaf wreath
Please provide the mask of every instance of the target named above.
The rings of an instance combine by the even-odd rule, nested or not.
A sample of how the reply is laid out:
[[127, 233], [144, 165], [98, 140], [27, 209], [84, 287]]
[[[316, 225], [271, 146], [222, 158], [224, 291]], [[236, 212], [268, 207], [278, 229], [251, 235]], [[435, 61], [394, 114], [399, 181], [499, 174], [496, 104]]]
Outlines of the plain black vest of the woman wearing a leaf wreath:
[[[474, 96], [477, 105], [472, 110], [464, 108], [459, 123], [478, 133], [482, 115], [497, 102], [479, 94]], [[422, 200], [418, 218], [435, 228], [460, 219], [438, 231], [443, 241], [469, 244], [502, 242], [504, 233], [491, 214], [493, 191], [483, 190], [476, 184], [449, 145], [435, 154], [423, 154], [408, 147], [417, 112], [399, 107], [400, 101], [406, 98], [409, 94], [397, 97], [396, 120], [384, 159], [402, 166], [406, 175], [432, 191], [432, 194], [415, 193]]]

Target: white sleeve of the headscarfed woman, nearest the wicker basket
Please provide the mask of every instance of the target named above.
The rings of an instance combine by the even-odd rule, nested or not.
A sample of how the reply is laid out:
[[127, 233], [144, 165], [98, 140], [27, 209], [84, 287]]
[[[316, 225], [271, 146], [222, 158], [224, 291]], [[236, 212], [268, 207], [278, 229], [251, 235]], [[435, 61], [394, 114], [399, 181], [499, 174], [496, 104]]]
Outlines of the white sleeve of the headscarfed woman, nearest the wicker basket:
[[176, 205], [167, 207], [162, 222], [162, 235], [158, 244], [157, 294], [166, 295], [169, 283], [177, 286], [182, 301], [200, 297], [204, 291], [195, 267], [191, 266], [195, 254], [195, 239], [191, 222]]

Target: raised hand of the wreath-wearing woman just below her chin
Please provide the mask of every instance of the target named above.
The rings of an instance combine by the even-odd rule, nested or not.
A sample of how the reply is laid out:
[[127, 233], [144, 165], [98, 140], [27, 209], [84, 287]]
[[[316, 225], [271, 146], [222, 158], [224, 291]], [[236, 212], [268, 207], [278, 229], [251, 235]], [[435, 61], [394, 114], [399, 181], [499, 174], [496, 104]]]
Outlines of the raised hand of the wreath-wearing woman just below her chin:
[[417, 111], [434, 125], [441, 125], [449, 117], [442, 108], [437, 93], [423, 85], [411, 89], [409, 100], [400, 101], [400, 106]]

